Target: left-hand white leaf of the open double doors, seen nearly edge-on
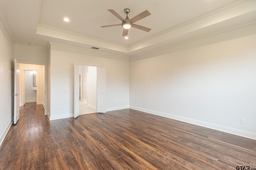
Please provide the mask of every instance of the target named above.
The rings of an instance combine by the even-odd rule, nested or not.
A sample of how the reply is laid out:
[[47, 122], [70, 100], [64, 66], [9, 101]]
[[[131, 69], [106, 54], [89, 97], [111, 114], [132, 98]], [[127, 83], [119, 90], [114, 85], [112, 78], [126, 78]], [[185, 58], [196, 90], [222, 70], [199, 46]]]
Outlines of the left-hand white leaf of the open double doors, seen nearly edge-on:
[[79, 65], [74, 64], [74, 118], [79, 116]]

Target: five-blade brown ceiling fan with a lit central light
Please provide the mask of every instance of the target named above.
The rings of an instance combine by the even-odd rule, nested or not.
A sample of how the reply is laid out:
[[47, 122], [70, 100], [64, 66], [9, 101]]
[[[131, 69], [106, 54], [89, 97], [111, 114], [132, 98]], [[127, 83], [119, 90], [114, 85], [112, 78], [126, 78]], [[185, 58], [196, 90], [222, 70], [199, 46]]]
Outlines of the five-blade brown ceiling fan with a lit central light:
[[129, 17], [128, 17], [128, 14], [130, 12], [130, 9], [128, 9], [128, 8], [124, 9], [124, 12], [126, 13], [126, 18], [125, 19], [122, 18], [122, 16], [120, 16], [115, 10], [108, 10], [108, 11], [111, 12], [114, 16], [116, 16], [119, 20], [121, 20], [122, 23], [112, 24], [112, 25], [104, 25], [104, 26], [101, 26], [102, 28], [122, 25], [122, 27], [124, 28], [123, 36], [127, 36], [128, 35], [128, 29], [130, 29], [131, 27], [140, 29], [142, 31], [147, 31], [147, 32], [149, 32], [151, 30], [150, 28], [147, 28], [147, 27], [144, 27], [144, 26], [141, 26], [141, 25], [137, 25], [137, 24], [134, 23], [134, 22], [136, 22], [138, 20], [141, 20], [142, 18], [145, 18], [145, 17], [151, 15], [148, 12], [148, 10], [145, 10], [144, 12], [136, 15], [132, 19], [129, 19]]

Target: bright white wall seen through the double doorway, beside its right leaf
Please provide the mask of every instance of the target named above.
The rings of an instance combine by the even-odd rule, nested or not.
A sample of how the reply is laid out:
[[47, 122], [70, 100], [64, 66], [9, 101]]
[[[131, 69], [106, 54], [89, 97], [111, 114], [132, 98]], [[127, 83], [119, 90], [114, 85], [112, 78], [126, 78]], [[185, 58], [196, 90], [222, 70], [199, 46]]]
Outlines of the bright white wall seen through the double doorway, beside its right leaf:
[[88, 106], [97, 108], [97, 67], [88, 66]]

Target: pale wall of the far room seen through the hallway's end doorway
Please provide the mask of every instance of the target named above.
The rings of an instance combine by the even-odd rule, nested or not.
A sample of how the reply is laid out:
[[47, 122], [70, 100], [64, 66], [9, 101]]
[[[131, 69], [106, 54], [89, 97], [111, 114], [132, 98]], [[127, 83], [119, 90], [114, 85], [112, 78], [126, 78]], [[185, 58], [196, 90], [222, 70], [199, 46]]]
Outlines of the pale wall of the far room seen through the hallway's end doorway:
[[[25, 71], [25, 102], [36, 102], [36, 87], [33, 87], [34, 71]], [[36, 74], [36, 73], [35, 73]], [[20, 95], [21, 96], [21, 95]]]

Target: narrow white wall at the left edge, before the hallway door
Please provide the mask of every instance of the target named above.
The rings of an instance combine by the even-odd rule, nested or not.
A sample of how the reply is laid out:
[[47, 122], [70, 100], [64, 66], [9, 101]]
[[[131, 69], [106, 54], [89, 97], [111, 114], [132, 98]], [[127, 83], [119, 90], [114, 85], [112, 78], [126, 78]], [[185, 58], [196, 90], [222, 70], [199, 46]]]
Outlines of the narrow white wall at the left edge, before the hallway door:
[[12, 125], [14, 48], [0, 18], [0, 145]]

